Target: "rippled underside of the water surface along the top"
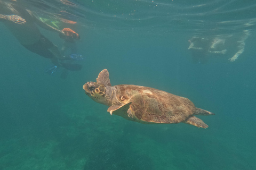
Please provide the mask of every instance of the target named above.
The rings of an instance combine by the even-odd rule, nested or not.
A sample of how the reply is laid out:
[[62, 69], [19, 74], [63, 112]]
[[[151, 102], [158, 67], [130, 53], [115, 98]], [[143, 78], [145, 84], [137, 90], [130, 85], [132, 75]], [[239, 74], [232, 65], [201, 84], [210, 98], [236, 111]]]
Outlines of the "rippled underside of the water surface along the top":
[[[7, 0], [5, 0], [7, 1]], [[10, 1], [10, 0], [9, 0]], [[231, 33], [255, 29], [253, 1], [19, 0], [39, 16], [116, 31]]]

